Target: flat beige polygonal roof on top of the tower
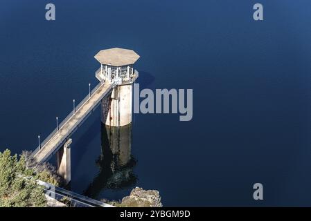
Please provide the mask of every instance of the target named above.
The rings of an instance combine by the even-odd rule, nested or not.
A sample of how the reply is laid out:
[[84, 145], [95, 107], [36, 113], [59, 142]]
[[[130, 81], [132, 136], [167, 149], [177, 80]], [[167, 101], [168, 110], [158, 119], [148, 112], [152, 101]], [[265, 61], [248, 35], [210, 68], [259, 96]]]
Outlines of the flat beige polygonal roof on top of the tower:
[[100, 52], [95, 55], [95, 58], [100, 64], [119, 67], [134, 64], [139, 59], [139, 55], [137, 55], [134, 50], [110, 48], [100, 50]]

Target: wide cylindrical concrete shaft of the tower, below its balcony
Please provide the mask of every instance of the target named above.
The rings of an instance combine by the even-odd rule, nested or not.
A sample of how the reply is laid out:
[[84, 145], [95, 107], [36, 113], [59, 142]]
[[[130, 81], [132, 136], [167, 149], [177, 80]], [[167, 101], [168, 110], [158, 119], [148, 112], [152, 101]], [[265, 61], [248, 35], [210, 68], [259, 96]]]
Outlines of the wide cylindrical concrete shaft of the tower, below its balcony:
[[116, 86], [112, 95], [103, 99], [102, 122], [107, 126], [125, 126], [132, 123], [133, 84]]

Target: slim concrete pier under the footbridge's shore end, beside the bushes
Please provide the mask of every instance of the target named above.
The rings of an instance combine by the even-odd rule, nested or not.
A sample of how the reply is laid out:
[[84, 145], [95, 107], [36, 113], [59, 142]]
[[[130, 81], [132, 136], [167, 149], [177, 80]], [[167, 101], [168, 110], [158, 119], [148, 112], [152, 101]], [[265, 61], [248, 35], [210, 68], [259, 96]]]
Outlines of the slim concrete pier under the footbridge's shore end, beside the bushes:
[[64, 178], [66, 184], [71, 181], [71, 159], [70, 159], [70, 145], [72, 139], [67, 140], [63, 148], [57, 151], [57, 173]]

